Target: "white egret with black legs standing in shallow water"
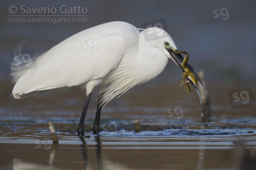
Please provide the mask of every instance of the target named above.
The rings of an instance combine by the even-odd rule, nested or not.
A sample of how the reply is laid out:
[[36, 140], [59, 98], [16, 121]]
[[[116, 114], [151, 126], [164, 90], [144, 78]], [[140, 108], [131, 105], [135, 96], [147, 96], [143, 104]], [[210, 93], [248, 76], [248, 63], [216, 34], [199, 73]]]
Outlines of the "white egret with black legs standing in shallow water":
[[[19, 62], [16, 55], [11, 63], [11, 76], [15, 83], [12, 95], [19, 99], [57, 88], [86, 89], [85, 104], [77, 127], [78, 134], [84, 134], [91, 91], [99, 86], [93, 127], [93, 132], [99, 133], [102, 104], [159, 75], [166, 67], [168, 58], [184, 72], [175, 56], [181, 61], [183, 57], [174, 51], [178, 52], [171, 36], [158, 27], [140, 32], [126, 22], [101, 24], [67, 38], [32, 58], [29, 63]], [[186, 66], [199, 80], [193, 67]]]

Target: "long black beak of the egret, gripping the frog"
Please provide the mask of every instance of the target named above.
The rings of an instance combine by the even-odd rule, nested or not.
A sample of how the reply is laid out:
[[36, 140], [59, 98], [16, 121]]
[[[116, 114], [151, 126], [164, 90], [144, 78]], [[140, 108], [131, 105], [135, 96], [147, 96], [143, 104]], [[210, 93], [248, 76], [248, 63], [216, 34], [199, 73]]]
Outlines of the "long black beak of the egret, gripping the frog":
[[[167, 49], [167, 50], [169, 51], [170, 55], [172, 56], [172, 60], [176, 63], [176, 65], [181, 69], [182, 72], [185, 72], [185, 70], [183, 69], [183, 67], [182, 67], [182, 65], [180, 64], [180, 62], [175, 58], [175, 56], [176, 56], [179, 60], [181, 60], [181, 62], [183, 62], [184, 58], [182, 57], [182, 55], [175, 53], [175, 52], [179, 52], [179, 51], [178, 51], [178, 50], [175, 50], [175, 52], [173, 52], [172, 49]], [[174, 56], [174, 55], [175, 55], [175, 56]], [[187, 68], [189, 69], [189, 71], [191, 71], [191, 72], [194, 74], [194, 76], [197, 78], [197, 80], [198, 80], [198, 81], [201, 83], [201, 85], [203, 86], [203, 83], [202, 83], [202, 81], [200, 80], [200, 78], [197, 76], [197, 74], [195, 73], [194, 68], [193, 68], [191, 65], [189, 65], [188, 63], [186, 64], [186, 66], [187, 66]], [[188, 78], [187, 78], [187, 79], [188, 79]], [[194, 86], [194, 88], [197, 90], [196, 85], [195, 85], [190, 79], [188, 79], [188, 80], [189, 80], [190, 83]]]

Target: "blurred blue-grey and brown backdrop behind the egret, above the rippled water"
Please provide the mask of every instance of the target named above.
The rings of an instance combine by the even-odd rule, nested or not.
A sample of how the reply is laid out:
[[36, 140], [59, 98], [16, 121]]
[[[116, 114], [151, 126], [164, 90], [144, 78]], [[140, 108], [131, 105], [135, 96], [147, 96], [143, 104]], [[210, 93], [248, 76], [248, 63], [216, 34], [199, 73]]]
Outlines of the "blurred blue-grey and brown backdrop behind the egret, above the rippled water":
[[[23, 6], [22, 6], [23, 5]], [[69, 14], [60, 12], [70, 10]], [[15, 123], [78, 123], [85, 100], [85, 91], [46, 93], [37, 97], [16, 100], [9, 95], [14, 84], [10, 80], [10, 56], [23, 40], [23, 50], [35, 53], [49, 50], [66, 38], [110, 21], [125, 21], [137, 28], [143, 23], [164, 19], [178, 49], [189, 53], [189, 64], [198, 73], [204, 70], [204, 79], [210, 94], [213, 121], [232, 122], [242, 118], [256, 123], [256, 2], [254, 1], [4, 1], [1, 3], [0, 44], [0, 121]], [[74, 6], [86, 7], [84, 14]], [[46, 7], [46, 13], [32, 8]], [[69, 8], [70, 7], [70, 8]], [[31, 9], [31, 12], [29, 11]], [[56, 13], [51, 10], [57, 9]], [[49, 12], [47, 11], [49, 10]], [[63, 11], [64, 11], [63, 10]], [[62, 11], [62, 12], [63, 12]], [[22, 16], [29, 15], [29, 16]], [[30, 15], [36, 15], [30, 17]], [[40, 15], [40, 16], [38, 16]], [[52, 15], [52, 16], [41, 16]], [[79, 22], [51, 22], [49, 18], [70, 15]], [[86, 15], [86, 16], [72, 16]], [[15, 21], [16, 18], [16, 21]], [[22, 22], [21, 19], [27, 20]], [[28, 21], [28, 18], [48, 18], [47, 22]], [[86, 18], [81, 21], [81, 18]], [[20, 19], [17, 21], [17, 19]], [[102, 30], [104, 31], [104, 30]], [[201, 119], [201, 104], [197, 92], [191, 87], [188, 98], [184, 87], [179, 87], [182, 73], [170, 60], [166, 69], [155, 79], [134, 87], [120, 98], [110, 102], [102, 111], [102, 118], [118, 117], [122, 123], [140, 119], [142, 123], [170, 124], [171, 121]], [[250, 87], [249, 105], [232, 108], [230, 95]], [[201, 88], [200, 84], [197, 88]], [[251, 91], [251, 90], [252, 91]], [[229, 91], [234, 90], [232, 94]], [[86, 115], [93, 123], [96, 111], [97, 89], [94, 90]], [[246, 98], [247, 97], [247, 98]], [[235, 98], [233, 98], [235, 99]], [[242, 98], [240, 96], [240, 102]], [[233, 105], [236, 105], [233, 103]], [[180, 106], [184, 118], [168, 117], [167, 109]], [[191, 120], [191, 121], [189, 121]]]

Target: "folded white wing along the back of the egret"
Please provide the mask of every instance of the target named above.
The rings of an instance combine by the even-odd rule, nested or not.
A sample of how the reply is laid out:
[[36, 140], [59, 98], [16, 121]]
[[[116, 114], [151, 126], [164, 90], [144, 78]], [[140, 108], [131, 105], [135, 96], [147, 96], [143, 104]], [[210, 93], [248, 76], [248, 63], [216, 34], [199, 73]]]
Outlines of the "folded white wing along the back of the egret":
[[133, 27], [126, 22], [110, 22], [67, 38], [34, 61], [36, 67], [20, 76], [13, 94], [22, 98], [23, 94], [80, 86], [106, 76], [124, 55], [129, 31], [138, 36]]

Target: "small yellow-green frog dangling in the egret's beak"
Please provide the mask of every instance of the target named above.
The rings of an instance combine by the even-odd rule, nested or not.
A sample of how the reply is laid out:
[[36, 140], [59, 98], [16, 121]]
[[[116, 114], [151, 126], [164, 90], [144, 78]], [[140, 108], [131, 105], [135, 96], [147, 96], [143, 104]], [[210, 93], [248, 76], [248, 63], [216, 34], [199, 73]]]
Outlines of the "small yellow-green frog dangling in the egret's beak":
[[175, 52], [176, 54], [186, 54], [183, 62], [181, 63], [183, 69], [185, 70], [185, 72], [183, 72], [182, 74], [182, 83], [179, 84], [180, 87], [182, 85], [185, 85], [185, 90], [187, 90], [188, 93], [188, 97], [190, 95], [190, 87], [189, 87], [189, 83], [190, 81], [185, 81], [185, 78], [187, 77], [188, 79], [190, 79], [195, 85], [197, 85], [197, 78], [194, 76], [194, 74], [188, 69], [188, 67], [186, 66], [187, 62], [188, 62], [188, 53], [186, 51], [179, 51], [179, 52]]

